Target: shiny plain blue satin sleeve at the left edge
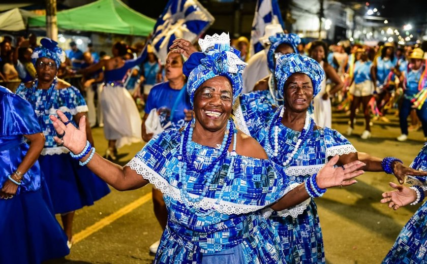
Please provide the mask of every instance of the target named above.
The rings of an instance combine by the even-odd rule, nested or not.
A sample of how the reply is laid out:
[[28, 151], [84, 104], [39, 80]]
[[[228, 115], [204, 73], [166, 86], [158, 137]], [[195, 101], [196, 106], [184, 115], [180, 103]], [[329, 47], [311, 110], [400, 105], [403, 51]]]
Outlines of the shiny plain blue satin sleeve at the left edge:
[[33, 107], [19, 95], [0, 86], [0, 136], [41, 133]]

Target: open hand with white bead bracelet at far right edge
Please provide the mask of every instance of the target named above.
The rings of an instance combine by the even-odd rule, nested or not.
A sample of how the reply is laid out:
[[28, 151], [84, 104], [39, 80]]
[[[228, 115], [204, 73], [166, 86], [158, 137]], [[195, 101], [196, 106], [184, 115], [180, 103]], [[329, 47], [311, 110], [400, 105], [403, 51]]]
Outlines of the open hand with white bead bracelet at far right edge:
[[417, 193], [409, 187], [397, 185], [393, 182], [388, 183], [395, 191], [383, 192], [381, 203], [388, 203], [388, 208], [398, 210], [399, 207], [409, 205], [417, 199]]

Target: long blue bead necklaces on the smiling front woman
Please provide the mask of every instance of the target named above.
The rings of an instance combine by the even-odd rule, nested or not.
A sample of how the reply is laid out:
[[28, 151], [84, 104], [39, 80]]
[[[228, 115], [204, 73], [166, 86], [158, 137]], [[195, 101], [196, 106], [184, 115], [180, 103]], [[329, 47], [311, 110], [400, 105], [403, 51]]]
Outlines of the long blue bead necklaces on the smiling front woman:
[[[179, 146], [179, 156], [178, 156], [178, 168], [179, 168], [179, 178], [178, 178], [178, 182], [181, 185], [181, 189], [180, 189], [180, 193], [181, 193], [181, 199], [182, 202], [184, 203], [184, 205], [187, 207], [187, 209], [191, 212], [196, 214], [197, 216], [207, 216], [212, 214], [218, 207], [218, 204], [220, 203], [224, 190], [227, 186], [227, 182], [224, 181], [224, 185], [221, 189], [221, 192], [218, 196], [217, 201], [215, 202], [215, 205], [212, 206], [212, 209], [207, 210], [206, 212], [200, 212], [201, 209], [195, 209], [194, 207], [191, 207], [189, 205], [190, 203], [198, 203], [200, 202], [205, 196], [206, 193], [209, 189], [209, 186], [212, 182], [212, 179], [214, 179], [214, 176], [217, 174], [218, 169], [222, 166], [222, 164], [220, 163], [224, 163], [225, 160], [225, 156], [227, 154], [227, 150], [231, 144], [231, 138], [232, 136], [234, 137], [234, 141], [233, 141], [233, 150], [231, 151], [230, 155], [231, 155], [231, 161], [230, 161], [230, 166], [228, 167], [228, 171], [227, 171], [227, 175], [226, 178], [229, 180], [232, 180], [230, 178], [230, 173], [234, 164], [234, 158], [236, 156], [236, 143], [237, 143], [237, 129], [234, 128], [234, 124], [231, 121], [231, 119], [228, 121], [227, 123], [227, 129], [226, 132], [224, 134], [224, 139], [223, 142], [221, 144], [220, 147], [220, 154], [218, 155], [217, 158], [214, 159], [214, 161], [212, 161], [212, 163], [209, 164], [209, 166], [207, 166], [206, 168], [211, 168], [212, 170], [210, 172], [206, 173], [206, 181], [204, 183], [204, 187], [203, 190], [201, 192], [201, 194], [196, 197], [190, 197], [190, 193], [187, 190], [187, 170], [191, 170], [193, 172], [196, 173], [205, 173], [207, 170], [206, 168], [203, 170], [197, 170], [192, 162], [190, 162], [189, 157], [188, 157], [188, 153], [187, 153], [187, 148], [190, 147], [190, 142], [191, 138], [193, 136], [193, 128], [194, 128], [194, 124], [193, 123], [189, 123], [187, 124], [187, 127], [185, 129], [185, 132], [181, 135], [181, 142], [180, 142], [180, 146]], [[224, 176], [220, 176], [221, 179], [219, 180], [219, 182], [222, 182], [224, 180]]]

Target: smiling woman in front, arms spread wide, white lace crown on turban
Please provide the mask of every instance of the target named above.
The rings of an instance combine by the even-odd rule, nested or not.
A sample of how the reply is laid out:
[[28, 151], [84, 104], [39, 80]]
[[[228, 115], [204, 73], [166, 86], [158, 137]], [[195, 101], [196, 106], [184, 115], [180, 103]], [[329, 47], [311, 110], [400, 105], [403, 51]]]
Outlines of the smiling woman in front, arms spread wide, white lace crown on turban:
[[[169, 218], [155, 263], [283, 263], [275, 230], [256, 211], [274, 202], [274, 210], [303, 210], [299, 204], [309, 198], [303, 184], [278, 176], [262, 147], [229, 119], [246, 64], [229, 43], [227, 34], [199, 40], [204, 52], [184, 65], [195, 120], [157, 135], [123, 168], [93, 148], [89, 154], [84, 120], [76, 129], [62, 122], [62, 112], [62, 121], [51, 116], [57, 133], [65, 132], [64, 145], [113, 187], [150, 182], [163, 192]], [[363, 173], [359, 161], [333, 168], [337, 159], [319, 172], [317, 188], [350, 185]]]

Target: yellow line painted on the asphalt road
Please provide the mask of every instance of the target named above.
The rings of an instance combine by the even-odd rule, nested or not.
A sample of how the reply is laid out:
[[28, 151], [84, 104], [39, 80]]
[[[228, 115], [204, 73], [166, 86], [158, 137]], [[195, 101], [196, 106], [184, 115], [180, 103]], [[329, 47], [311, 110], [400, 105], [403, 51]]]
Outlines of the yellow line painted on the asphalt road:
[[132, 212], [139, 206], [145, 204], [146, 202], [151, 200], [151, 192], [145, 194], [144, 196], [140, 197], [139, 199], [133, 201], [127, 206], [124, 206], [120, 208], [119, 210], [115, 211], [114, 213], [110, 214], [107, 217], [102, 218], [95, 224], [86, 227], [85, 229], [81, 230], [79, 233], [73, 236], [74, 244], [78, 243], [79, 241], [82, 241], [83, 239], [87, 238], [88, 236], [94, 234], [95, 232], [98, 232], [101, 228], [111, 224], [118, 218]]

